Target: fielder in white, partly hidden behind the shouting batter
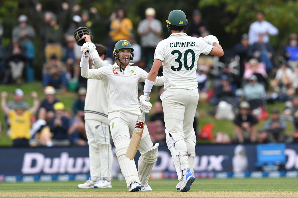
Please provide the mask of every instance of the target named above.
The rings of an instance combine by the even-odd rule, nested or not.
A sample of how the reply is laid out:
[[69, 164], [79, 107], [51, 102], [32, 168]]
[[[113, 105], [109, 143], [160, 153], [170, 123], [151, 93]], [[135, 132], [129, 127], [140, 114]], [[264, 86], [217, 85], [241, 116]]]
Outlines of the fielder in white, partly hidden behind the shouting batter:
[[[86, 42], [91, 42], [89, 35], [82, 36]], [[93, 69], [111, 66], [104, 61], [107, 50], [103, 45], [96, 45], [91, 54]], [[85, 129], [89, 145], [90, 175], [91, 178], [77, 187], [112, 188], [111, 169], [113, 154], [110, 143], [108, 123], [108, 94], [107, 86], [102, 80], [87, 81], [87, 94], [85, 99]]]

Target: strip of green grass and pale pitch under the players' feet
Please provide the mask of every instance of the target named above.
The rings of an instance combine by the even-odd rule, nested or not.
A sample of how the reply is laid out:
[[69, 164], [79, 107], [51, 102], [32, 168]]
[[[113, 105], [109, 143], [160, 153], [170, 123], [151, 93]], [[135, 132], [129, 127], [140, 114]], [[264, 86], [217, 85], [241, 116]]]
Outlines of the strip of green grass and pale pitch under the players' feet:
[[184, 193], [177, 180], [150, 180], [151, 192], [128, 192], [125, 181], [112, 181], [111, 189], [77, 189], [79, 183], [0, 183], [0, 197], [298, 197], [297, 178], [197, 179]]

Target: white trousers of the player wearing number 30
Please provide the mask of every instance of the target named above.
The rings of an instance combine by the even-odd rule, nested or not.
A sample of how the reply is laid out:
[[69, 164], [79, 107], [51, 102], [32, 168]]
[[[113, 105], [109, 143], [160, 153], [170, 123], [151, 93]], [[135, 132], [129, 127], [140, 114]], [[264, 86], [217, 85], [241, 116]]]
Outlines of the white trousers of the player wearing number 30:
[[[198, 89], [167, 89], [162, 94], [164, 123], [175, 142], [175, 149], [195, 155], [195, 131], [193, 121], [199, 100]], [[176, 159], [176, 156], [173, 156]], [[179, 156], [181, 170], [193, 170], [193, 159]]]

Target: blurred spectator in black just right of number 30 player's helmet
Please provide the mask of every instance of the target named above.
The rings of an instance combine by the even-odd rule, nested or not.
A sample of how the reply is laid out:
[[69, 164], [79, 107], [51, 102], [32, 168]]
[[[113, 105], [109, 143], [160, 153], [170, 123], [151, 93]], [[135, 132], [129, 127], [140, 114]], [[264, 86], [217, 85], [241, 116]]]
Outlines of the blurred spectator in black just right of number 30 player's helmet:
[[202, 20], [201, 11], [198, 9], [193, 10], [193, 21], [188, 25], [188, 36], [202, 37], [201, 33], [207, 29], [207, 23]]

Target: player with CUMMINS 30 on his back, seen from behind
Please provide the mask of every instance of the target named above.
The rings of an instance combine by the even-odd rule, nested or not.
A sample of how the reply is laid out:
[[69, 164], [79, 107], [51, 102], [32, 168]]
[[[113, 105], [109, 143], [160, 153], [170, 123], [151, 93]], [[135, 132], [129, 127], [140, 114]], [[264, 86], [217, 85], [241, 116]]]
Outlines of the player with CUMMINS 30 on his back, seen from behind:
[[163, 65], [164, 92], [162, 107], [166, 126], [166, 142], [176, 167], [180, 192], [190, 190], [195, 180], [195, 132], [193, 120], [198, 104], [198, 83], [196, 63], [199, 55], [223, 56], [224, 52], [215, 36], [204, 38], [189, 37], [183, 31], [188, 21], [184, 12], [173, 10], [167, 20], [167, 28], [172, 34], [156, 46], [152, 69], [145, 82], [144, 96], [151, 91], [157, 72]]

